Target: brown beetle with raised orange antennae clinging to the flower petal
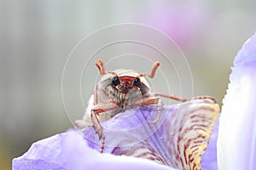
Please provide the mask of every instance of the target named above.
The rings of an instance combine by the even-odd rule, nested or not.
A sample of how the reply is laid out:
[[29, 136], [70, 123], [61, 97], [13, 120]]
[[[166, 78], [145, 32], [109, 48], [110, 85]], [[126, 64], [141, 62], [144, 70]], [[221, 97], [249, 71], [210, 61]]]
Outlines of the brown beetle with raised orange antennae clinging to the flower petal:
[[[101, 152], [104, 149], [105, 136], [102, 132], [100, 122], [106, 121], [122, 111], [137, 106], [158, 105], [158, 112], [155, 123], [160, 117], [160, 97], [174, 99], [185, 102], [191, 99], [183, 99], [175, 95], [153, 93], [149, 88], [148, 81], [145, 77], [154, 78], [155, 71], [160, 66], [160, 62], [154, 62], [149, 74], [141, 74], [131, 70], [106, 71], [102, 59], [96, 61], [96, 67], [102, 76], [96, 84], [94, 93], [85, 111], [84, 117], [75, 122], [75, 127], [84, 128], [92, 125], [99, 139], [102, 139]], [[192, 99], [215, 99], [211, 96], [198, 96]]]

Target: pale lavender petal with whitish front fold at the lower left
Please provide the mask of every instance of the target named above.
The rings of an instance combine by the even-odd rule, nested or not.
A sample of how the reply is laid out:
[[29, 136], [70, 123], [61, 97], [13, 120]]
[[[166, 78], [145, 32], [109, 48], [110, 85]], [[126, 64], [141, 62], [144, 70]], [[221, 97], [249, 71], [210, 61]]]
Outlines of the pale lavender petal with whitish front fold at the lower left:
[[76, 131], [57, 134], [32, 144], [23, 156], [13, 160], [14, 170], [25, 169], [162, 169], [172, 170], [154, 161], [100, 154], [86, 144]]

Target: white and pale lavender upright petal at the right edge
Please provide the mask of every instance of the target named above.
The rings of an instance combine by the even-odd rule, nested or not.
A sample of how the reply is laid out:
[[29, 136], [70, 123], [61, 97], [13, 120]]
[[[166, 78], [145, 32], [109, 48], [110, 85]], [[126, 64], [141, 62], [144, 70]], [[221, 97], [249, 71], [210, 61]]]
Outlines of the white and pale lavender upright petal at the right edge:
[[234, 61], [219, 122], [219, 169], [256, 169], [256, 34]]

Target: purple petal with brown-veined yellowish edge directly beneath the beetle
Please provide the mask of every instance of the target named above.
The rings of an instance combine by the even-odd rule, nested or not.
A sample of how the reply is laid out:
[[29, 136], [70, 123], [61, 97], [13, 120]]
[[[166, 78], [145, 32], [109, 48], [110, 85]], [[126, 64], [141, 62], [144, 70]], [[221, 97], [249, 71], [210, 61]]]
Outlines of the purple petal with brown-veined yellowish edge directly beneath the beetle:
[[[104, 152], [143, 157], [179, 169], [200, 168], [201, 156], [218, 119], [218, 104], [196, 99], [169, 105], [161, 111], [160, 120], [153, 124], [156, 114], [156, 107], [141, 107], [137, 111], [125, 111], [111, 122], [102, 122], [106, 137]], [[214, 132], [212, 144], [216, 145], [218, 128]], [[84, 137], [90, 141], [90, 147], [100, 150], [101, 141], [94, 130], [86, 129]], [[204, 161], [214, 164], [212, 169], [216, 168], [216, 146], [207, 153], [215, 153], [213, 159], [206, 156]]]

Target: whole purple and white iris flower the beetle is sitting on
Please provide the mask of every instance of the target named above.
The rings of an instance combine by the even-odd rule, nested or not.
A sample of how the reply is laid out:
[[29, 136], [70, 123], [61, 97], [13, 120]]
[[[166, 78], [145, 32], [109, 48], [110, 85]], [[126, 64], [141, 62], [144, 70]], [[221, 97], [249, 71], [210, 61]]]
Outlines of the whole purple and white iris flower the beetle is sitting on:
[[[34, 144], [13, 169], [256, 169], [256, 35], [237, 54], [219, 116], [211, 99], [137, 107], [93, 127]], [[217, 142], [218, 140], [218, 142]]]

